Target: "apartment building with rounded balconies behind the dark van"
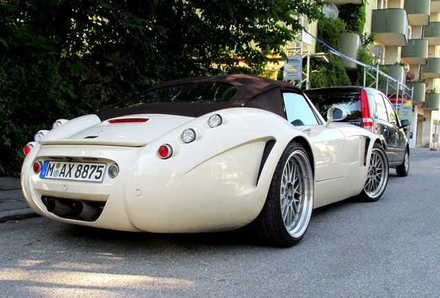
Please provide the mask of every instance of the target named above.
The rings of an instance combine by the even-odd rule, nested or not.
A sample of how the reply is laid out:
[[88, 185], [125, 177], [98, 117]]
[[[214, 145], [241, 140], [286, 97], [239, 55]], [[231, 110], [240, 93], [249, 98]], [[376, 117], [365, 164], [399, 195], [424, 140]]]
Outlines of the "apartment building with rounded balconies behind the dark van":
[[[439, 146], [440, 0], [328, 0], [333, 8], [365, 6], [365, 33], [374, 33], [372, 52], [384, 72], [395, 79], [378, 84], [396, 102], [401, 118], [410, 120], [410, 146]], [[337, 9], [336, 9], [337, 10]], [[316, 34], [320, 26], [309, 28]], [[319, 39], [320, 37], [317, 36]], [[309, 46], [315, 53], [316, 41]], [[340, 52], [357, 59], [360, 37], [340, 34]], [[303, 47], [304, 49], [304, 47]], [[345, 61], [345, 68], [359, 67]], [[398, 83], [397, 83], [398, 82]], [[400, 84], [399, 84], [400, 83]]]

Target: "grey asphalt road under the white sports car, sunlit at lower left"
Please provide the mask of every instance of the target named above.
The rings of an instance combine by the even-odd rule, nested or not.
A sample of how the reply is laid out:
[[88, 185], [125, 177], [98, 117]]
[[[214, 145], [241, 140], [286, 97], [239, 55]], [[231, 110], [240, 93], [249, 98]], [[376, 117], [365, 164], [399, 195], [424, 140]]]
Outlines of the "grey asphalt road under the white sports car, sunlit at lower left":
[[440, 155], [375, 203], [314, 210], [293, 248], [246, 230], [152, 235], [44, 217], [0, 224], [1, 297], [439, 297]]

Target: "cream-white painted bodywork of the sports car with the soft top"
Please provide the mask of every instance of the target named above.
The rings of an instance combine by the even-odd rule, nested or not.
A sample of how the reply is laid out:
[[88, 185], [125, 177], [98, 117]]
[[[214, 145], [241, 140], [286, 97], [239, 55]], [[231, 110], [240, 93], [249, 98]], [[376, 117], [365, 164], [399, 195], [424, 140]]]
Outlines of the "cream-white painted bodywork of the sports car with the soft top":
[[[359, 160], [364, 155], [365, 140], [374, 137], [367, 130], [337, 123], [329, 128], [320, 125], [300, 130], [271, 112], [254, 108], [217, 113], [224, 119], [217, 128], [208, 126], [209, 115], [195, 119], [136, 115], [150, 120], [116, 125], [96, 124], [89, 117], [87, 120], [93, 121], [87, 121], [84, 130], [78, 121], [77, 127], [68, 127], [62, 140], [57, 139], [61, 128], [56, 128], [24, 161], [21, 181], [26, 199], [39, 214], [86, 226], [148, 232], [232, 230], [250, 223], [262, 210], [277, 161], [295, 137], [307, 137], [311, 142], [315, 208], [362, 190], [368, 167], [360, 165]], [[164, 123], [172, 125], [164, 127]], [[180, 125], [167, 131], [176, 123]], [[131, 136], [118, 133], [124, 126], [130, 126]], [[189, 127], [199, 137], [193, 143], [183, 143], [181, 132]], [[100, 130], [100, 140], [83, 139]], [[55, 132], [57, 137], [53, 137]], [[140, 139], [147, 146], [139, 146], [133, 135], [142, 135]], [[271, 139], [276, 143], [257, 183], [264, 146]], [[111, 142], [117, 145], [108, 146]], [[163, 143], [172, 144], [172, 158], [158, 157], [157, 150]], [[212, 143], [216, 146], [208, 146]], [[349, 150], [351, 155], [344, 150], [346, 146], [353, 148]], [[115, 179], [106, 176], [97, 187], [93, 182], [40, 179], [28, 170], [37, 159], [57, 156], [116, 162], [120, 174]], [[358, 187], [347, 188], [353, 185]], [[45, 195], [107, 203], [96, 221], [79, 221], [48, 212], [41, 199]]]

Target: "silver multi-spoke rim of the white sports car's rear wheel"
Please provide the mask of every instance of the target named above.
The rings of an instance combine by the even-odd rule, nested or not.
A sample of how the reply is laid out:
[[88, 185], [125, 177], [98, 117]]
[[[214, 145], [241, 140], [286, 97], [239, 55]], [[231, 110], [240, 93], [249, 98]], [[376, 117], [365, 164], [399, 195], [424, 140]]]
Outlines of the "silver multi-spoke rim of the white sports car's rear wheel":
[[309, 159], [302, 150], [291, 152], [284, 163], [279, 192], [287, 232], [293, 238], [302, 237], [313, 208], [313, 175]]

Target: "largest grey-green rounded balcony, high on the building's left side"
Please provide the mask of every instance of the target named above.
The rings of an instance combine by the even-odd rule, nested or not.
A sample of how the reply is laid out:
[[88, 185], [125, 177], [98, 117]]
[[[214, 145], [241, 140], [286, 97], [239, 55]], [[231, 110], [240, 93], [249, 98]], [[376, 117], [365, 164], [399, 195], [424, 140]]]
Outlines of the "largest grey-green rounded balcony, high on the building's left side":
[[408, 18], [406, 10], [387, 8], [373, 10], [372, 32], [385, 46], [406, 46]]

